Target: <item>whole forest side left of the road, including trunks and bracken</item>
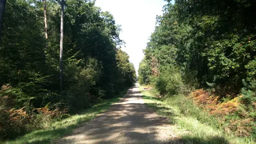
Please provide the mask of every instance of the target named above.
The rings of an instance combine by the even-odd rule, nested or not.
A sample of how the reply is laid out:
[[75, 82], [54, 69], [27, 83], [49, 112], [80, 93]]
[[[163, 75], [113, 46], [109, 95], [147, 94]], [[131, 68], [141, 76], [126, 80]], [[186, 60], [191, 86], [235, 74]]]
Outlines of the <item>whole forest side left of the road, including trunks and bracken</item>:
[[132, 86], [121, 30], [95, 0], [0, 0], [0, 140]]

